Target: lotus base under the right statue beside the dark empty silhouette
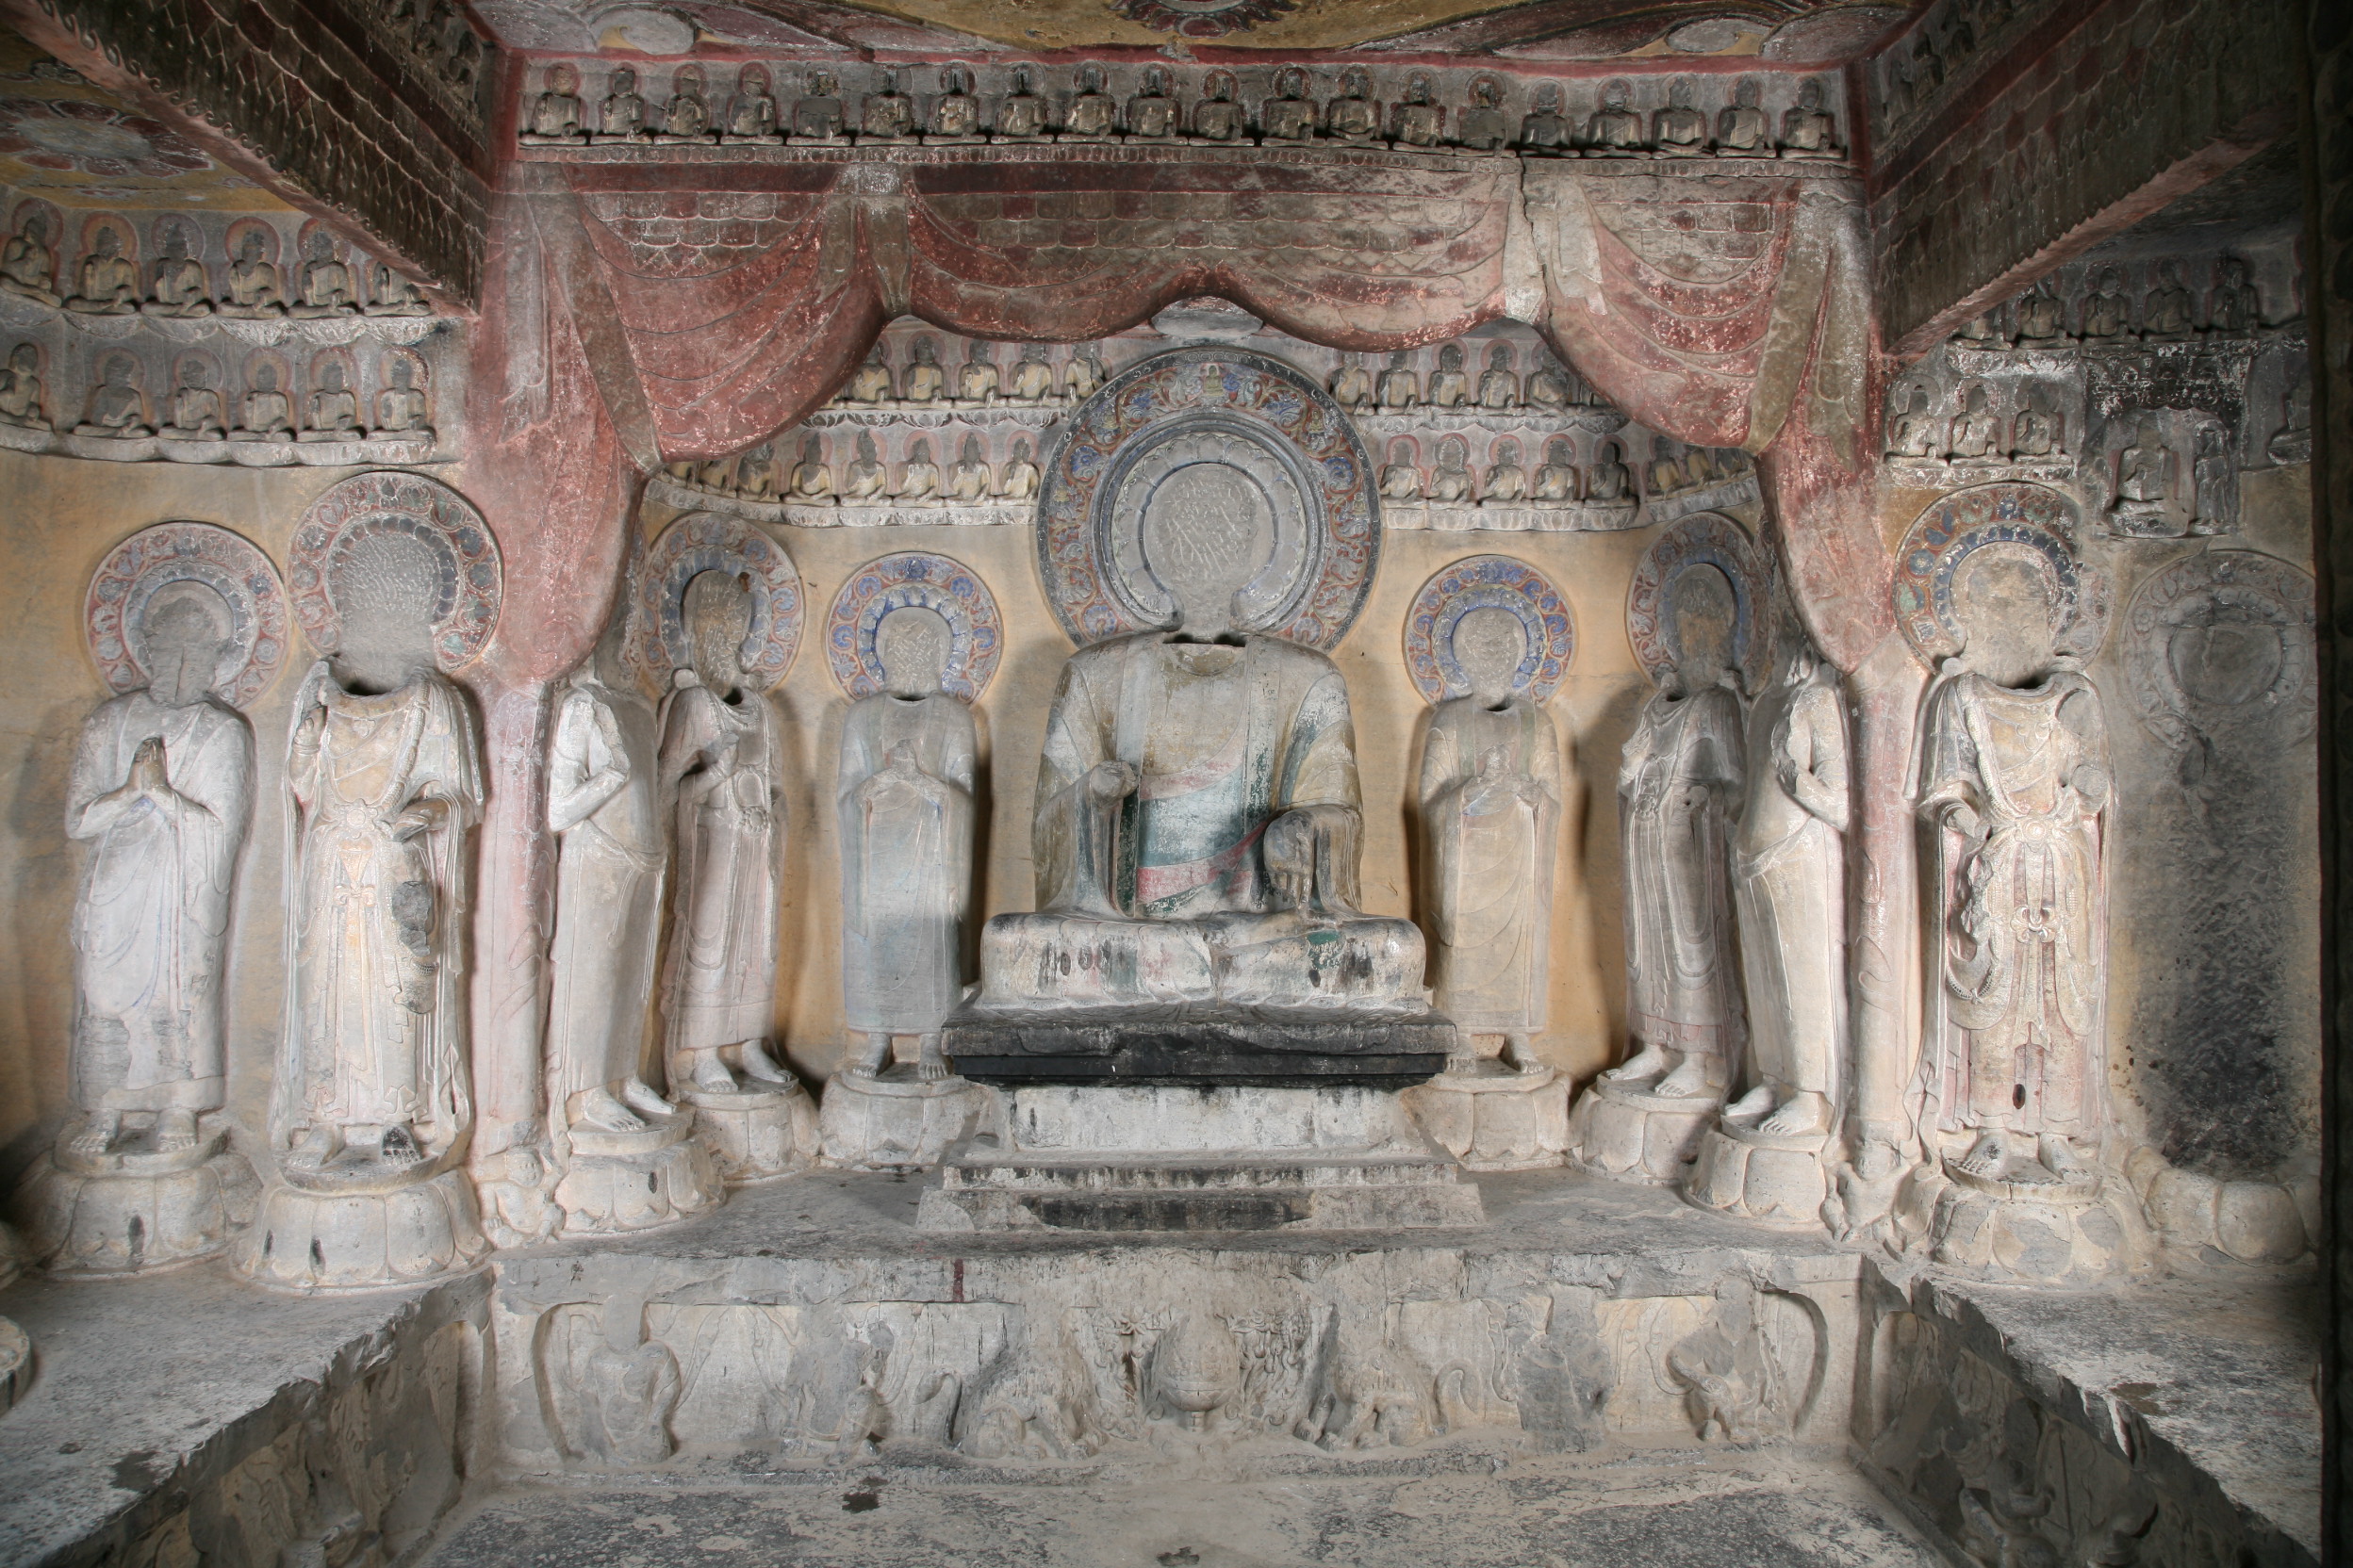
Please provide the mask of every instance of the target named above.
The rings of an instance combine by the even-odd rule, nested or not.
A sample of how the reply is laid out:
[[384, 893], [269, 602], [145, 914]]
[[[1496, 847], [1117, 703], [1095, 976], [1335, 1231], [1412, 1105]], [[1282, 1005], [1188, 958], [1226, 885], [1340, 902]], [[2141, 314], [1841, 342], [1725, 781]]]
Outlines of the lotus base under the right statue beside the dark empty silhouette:
[[1929, 1255], [1977, 1279], [2078, 1286], [2137, 1274], [2151, 1239], [2118, 1182], [1995, 1180], [1944, 1161], [1946, 1190], [1929, 1220]]

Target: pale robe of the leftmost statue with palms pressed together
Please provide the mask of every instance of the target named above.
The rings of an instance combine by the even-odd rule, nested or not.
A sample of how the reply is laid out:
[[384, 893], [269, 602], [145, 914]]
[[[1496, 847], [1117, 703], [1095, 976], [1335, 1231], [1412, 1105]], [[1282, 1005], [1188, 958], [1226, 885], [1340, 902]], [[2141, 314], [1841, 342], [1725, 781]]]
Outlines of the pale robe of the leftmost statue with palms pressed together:
[[[148, 736], [162, 738], [169, 795], [101, 802]], [[129, 691], [82, 726], [66, 788], [66, 835], [92, 844], [73, 905], [82, 1110], [221, 1105], [221, 980], [252, 809], [254, 736], [212, 698], [169, 708]]]

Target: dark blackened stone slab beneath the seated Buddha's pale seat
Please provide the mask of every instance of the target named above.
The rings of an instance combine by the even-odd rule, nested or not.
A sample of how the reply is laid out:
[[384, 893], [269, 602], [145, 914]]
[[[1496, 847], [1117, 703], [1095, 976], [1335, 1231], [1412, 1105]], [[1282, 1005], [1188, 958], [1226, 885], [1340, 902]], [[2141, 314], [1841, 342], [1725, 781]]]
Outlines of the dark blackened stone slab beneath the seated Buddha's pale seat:
[[941, 1048], [974, 1084], [1407, 1088], [1445, 1067], [1454, 1025], [1428, 1011], [967, 1004], [948, 1018]]

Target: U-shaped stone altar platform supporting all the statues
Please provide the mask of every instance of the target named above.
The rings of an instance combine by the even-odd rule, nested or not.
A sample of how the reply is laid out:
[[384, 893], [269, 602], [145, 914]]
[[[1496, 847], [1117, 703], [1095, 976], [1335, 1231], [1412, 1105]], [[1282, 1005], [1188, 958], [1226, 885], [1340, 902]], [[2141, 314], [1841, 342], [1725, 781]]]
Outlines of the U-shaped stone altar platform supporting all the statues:
[[[2315, 1561], [2308, 1286], [2026, 1295], [1572, 1171], [1478, 1182], [1482, 1225], [1405, 1237], [944, 1237], [915, 1225], [920, 1182], [809, 1171], [685, 1225], [369, 1298], [287, 1300], [221, 1262], [26, 1279], [0, 1291], [38, 1347], [0, 1420], [0, 1561], [275, 1568], [353, 1530], [386, 1561], [433, 1554], [489, 1476], [555, 1479], [584, 1507], [715, 1486], [781, 1505], [772, 1488], [824, 1481], [845, 1512], [885, 1474], [871, 1516], [887, 1521], [901, 1483], [1068, 1495], [1240, 1465], [1518, 1488], [1560, 1460], [1633, 1479], [1727, 1458], [1821, 1474], [1849, 1455], [1840, 1476], [1962, 1561], [1993, 1432], [2054, 1488], [2033, 1528], [2059, 1561], [2085, 1561], [2134, 1493], [2160, 1500], [2144, 1563]], [[1767, 1349], [1788, 1389], [1758, 1448], [1701, 1443], [1675, 1373], [1711, 1356], [1739, 1371], [1708, 1333], [1727, 1331], [1727, 1281], [1755, 1298], [1732, 1352], [1755, 1371]], [[626, 1356], [569, 1354], [576, 1326], [614, 1321], [638, 1335]], [[621, 1403], [631, 1387], [654, 1399]], [[1209, 1396], [1198, 1427], [1167, 1399], [1186, 1387]], [[605, 1422], [638, 1410], [640, 1458], [565, 1425], [584, 1399]], [[348, 1450], [334, 1439], [360, 1429]], [[1722, 1519], [1713, 1502], [1689, 1514]], [[1207, 1544], [1198, 1561], [1238, 1561]]]

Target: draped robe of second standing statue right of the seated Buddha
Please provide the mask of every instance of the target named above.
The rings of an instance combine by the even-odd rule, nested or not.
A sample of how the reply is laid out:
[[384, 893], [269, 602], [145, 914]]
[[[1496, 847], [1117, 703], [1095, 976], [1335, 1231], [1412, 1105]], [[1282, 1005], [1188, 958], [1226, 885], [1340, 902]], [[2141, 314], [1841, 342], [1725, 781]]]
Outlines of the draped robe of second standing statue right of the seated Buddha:
[[1635, 1046], [1741, 1046], [1725, 816], [1741, 788], [1741, 710], [1725, 686], [1654, 693], [1619, 766], [1626, 842], [1626, 1020]]

